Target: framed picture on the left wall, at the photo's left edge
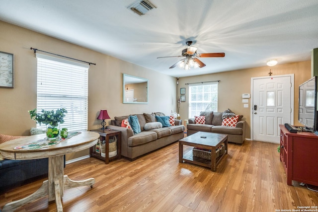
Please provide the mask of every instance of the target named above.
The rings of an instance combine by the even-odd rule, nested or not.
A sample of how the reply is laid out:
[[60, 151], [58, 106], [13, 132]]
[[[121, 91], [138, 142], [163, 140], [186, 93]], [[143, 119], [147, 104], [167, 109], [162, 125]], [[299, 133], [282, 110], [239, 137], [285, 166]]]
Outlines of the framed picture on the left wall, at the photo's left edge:
[[0, 87], [13, 88], [13, 54], [0, 52]]

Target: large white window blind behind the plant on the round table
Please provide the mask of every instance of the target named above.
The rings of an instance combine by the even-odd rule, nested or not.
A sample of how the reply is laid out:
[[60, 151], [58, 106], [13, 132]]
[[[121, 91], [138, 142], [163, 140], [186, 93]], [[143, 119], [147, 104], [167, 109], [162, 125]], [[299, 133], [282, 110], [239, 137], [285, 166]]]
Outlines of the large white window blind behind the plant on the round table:
[[[37, 111], [66, 108], [61, 128], [87, 130], [88, 68], [86, 64], [47, 55], [37, 57]], [[45, 129], [45, 125], [37, 124]]]

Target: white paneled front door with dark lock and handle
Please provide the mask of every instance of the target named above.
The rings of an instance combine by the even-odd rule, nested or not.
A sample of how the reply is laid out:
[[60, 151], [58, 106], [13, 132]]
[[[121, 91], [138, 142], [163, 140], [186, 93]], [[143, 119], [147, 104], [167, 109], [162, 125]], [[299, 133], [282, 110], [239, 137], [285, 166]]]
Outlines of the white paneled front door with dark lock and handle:
[[294, 75], [251, 79], [251, 139], [279, 143], [280, 124], [294, 124]]

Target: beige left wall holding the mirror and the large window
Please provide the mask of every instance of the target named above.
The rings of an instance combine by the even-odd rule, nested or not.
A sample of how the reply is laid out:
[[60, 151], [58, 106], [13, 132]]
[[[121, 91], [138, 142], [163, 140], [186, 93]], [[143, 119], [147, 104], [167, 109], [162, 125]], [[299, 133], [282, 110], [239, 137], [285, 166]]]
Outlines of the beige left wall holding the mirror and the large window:
[[[13, 89], [0, 88], [0, 134], [26, 136], [36, 126], [27, 112], [36, 108], [37, 60], [31, 47], [96, 63], [88, 75], [88, 130], [100, 128], [96, 117], [101, 109], [113, 119], [143, 112], [170, 114], [176, 107], [176, 93], [171, 92], [176, 90], [175, 77], [0, 21], [0, 51], [14, 54], [15, 77]], [[122, 103], [123, 73], [149, 79], [149, 104]], [[67, 159], [87, 154], [85, 150]]]

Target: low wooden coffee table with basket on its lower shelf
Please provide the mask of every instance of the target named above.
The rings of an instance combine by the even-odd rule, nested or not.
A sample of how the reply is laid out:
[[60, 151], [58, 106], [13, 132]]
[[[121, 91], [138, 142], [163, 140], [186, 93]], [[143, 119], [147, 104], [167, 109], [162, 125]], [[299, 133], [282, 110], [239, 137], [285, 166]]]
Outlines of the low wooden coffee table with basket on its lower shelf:
[[[215, 151], [222, 143], [224, 143], [225, 145], [225, 153], [222, 156], [216, 158]], [[183, 145], [211, 150], [211, 160], [194, 157], [192, 154], [192, 148], [190, 151], [183, 154]], [[215, 172], [217, 165], [226, 156], [226, 154], [228, 154], [228, 135], [197, 132], [191, 136], [179, 140], [179, 163], [183, 163], [183, 161], [186, 161], [189, 163], [211, 168], [211, 171]]]

